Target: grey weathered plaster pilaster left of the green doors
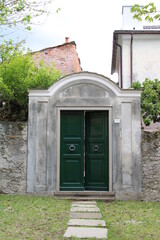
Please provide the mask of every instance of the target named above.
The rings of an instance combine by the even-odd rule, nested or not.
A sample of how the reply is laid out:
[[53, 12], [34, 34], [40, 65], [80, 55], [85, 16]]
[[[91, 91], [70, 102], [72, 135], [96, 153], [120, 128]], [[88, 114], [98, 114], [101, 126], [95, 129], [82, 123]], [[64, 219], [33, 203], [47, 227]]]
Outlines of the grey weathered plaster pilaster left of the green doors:
[[[48, 101], [30, 99], [28, 122], [28, 164], [27, 164], [27, 192], [49, 191], [52, 177], [52, 163], [49, 159], [48, 134]], [[52, 189], [53, 191], [53, 189]]]

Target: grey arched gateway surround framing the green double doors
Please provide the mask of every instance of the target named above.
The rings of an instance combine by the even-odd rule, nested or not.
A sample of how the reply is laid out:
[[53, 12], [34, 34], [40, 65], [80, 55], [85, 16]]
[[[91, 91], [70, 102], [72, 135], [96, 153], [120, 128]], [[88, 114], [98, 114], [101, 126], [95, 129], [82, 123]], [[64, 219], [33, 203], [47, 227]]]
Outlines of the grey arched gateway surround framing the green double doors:
[[66, 76], [48, 90], [29, 92], [27, 191], [60, 190], [64, 110], [109, 113], [109, 191], [139, 191], [140, 92], [120, 89], [108, 78], [89, 72]]

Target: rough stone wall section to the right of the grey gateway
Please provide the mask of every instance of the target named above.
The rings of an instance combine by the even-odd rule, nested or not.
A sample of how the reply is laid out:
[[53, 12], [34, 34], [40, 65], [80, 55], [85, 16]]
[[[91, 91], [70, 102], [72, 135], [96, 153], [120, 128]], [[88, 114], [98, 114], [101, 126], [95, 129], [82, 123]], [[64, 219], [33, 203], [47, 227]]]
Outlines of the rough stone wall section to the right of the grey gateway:
[[142, 199], [160, 201], [160, 131], [142, 133]]

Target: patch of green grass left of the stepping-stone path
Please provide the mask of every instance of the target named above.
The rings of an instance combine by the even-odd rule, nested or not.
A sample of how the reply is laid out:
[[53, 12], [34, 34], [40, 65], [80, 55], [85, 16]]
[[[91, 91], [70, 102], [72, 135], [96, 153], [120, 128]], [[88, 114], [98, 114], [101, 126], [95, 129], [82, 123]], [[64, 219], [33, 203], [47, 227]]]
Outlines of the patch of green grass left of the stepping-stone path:
[[0, 239], [63, 239], [71, 201], [0, 195]]

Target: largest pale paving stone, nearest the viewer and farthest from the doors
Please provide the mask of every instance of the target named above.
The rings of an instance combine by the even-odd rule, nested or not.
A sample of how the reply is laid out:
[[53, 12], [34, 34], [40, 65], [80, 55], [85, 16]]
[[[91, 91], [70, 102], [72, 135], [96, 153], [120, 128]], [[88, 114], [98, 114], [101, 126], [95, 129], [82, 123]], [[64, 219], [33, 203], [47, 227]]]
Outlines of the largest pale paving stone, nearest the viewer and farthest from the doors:
[[107, 233], [104, 228], [68, 227], [64, 237], [107, 239]]

